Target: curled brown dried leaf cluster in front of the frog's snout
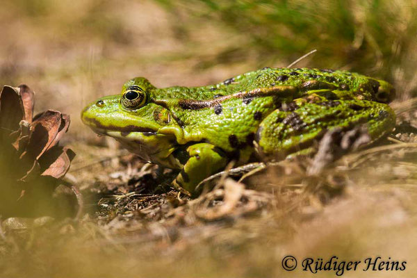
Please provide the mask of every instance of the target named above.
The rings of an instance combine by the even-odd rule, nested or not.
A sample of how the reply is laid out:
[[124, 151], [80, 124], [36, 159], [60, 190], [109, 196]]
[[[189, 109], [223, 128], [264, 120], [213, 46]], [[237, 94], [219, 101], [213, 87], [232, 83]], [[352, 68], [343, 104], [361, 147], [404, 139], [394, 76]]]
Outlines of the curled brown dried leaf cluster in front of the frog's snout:
[[0, 215], [42, 211], [40, 202], [50, 203], [75, 156], [58, 145], [70, 116], [48, 110], [33, 117], [34, 97], [27, 85], [0, 92]]

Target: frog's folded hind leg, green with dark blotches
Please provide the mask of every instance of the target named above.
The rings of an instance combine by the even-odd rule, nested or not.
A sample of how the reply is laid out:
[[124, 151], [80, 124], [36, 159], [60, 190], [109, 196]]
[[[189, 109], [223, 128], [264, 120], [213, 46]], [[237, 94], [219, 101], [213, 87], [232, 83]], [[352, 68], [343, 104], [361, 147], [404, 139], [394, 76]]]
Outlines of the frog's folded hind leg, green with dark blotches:
[[386, 104], [366, 100], [336, 100], [306, 103], [296, 99], [291, 105], [273, 111], [261, 122], [256, 133], [259, 152], [264, 156], [311, 154], [326, 131], [343, 131], [366, 126], [370, 142], [392, 131], [395, 113]]

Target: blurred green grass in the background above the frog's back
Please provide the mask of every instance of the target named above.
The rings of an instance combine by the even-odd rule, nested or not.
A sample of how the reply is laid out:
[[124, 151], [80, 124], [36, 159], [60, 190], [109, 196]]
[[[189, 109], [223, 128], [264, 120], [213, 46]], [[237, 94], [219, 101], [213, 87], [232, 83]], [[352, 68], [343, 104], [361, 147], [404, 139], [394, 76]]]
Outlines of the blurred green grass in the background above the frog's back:
[[[196, 28], [204, 18], [243, 36], [213, 63], [229, 63], [227, 55], [246, 60], [255, 52], [259, 67], [284, 60], [291, 63], [312, 49], [313, 67], [343, 68], [391, 82], [416, 77], [417, 2], [414, 0], [212, 1], [158, 0], [177, 28]], [[202, 19], [200, 19], [202, 20]], [[197, 27], [198, 28], [198, 27]], [[202, 33], [201, 35], [204, 35]], [[416, 93], [416, 88], [414, 94]]]

